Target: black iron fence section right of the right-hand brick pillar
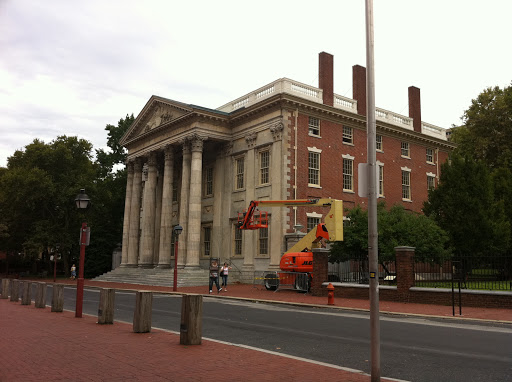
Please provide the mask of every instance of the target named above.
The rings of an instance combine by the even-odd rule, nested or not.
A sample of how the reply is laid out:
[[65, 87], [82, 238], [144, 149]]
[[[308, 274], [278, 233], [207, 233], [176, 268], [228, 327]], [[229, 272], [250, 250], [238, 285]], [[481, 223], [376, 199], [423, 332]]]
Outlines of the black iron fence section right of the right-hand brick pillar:
[[460, 282], [463, 289], [512, 290], [512, 257], [456, 257], [443, 263], [414, 264], [415, 286], [451, 288]]

